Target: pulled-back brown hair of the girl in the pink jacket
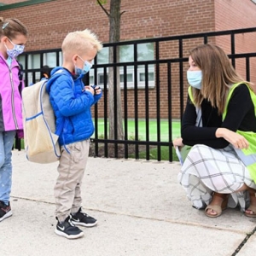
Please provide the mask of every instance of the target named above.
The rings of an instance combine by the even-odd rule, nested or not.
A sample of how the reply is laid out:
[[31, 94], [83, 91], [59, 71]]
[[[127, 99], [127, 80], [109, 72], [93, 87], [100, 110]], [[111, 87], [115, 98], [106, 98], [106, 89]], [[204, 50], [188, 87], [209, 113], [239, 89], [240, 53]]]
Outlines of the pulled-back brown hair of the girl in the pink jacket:
[[9, 39], [14, 39], [17, 35], [22, 34], [28, 36], [28, 31], [26, 26], [23, 25], [18, 19], [6, 19], [0, 17], [0, 37], [8, 37]]

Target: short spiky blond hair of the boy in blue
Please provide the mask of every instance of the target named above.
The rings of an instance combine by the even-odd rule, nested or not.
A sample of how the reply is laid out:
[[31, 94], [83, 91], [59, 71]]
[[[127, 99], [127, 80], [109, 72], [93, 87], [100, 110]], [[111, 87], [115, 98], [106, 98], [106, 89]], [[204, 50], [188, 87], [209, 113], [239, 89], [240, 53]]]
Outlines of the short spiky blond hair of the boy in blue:
[[90, 49], [100, 51], [102, 43], [98, 40], [95, 33], [85, 29], [84, 31], [69, 32], [63, 40], [61, 49], [63, 55], [82, 55], [84, 52], [90, 51]]

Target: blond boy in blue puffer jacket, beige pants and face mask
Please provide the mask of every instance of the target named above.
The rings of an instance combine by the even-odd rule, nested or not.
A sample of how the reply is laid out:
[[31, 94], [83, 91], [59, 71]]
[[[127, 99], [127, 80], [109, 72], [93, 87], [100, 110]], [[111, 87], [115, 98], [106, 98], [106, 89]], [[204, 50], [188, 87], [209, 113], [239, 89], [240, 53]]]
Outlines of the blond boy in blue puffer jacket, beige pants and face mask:
[[90, 136], [94, 132], [90, 107], [101, 98], [102, 90], [98, 86], [84, 86], [82, 79], [90, 71], [102, 44], [86, 29], [68, 33], [61, 49], [63, 65], [52, 70], [46, 87], [55, 112], [56, 129], [63, 127], [59, 137], [59, 176], [54, 189], [55, 233], [74, 239], [84, 236], [75, 225], [92, 227], [97, 223], [95, 218], [82, 212], [81, 183], [89, 155]]

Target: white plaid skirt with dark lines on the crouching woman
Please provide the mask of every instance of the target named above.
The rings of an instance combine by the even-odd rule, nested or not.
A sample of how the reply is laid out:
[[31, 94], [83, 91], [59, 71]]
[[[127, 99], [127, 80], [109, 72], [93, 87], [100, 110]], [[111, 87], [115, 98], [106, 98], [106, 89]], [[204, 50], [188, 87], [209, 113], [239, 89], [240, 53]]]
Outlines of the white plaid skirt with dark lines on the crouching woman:
[[244, 212], [250, 203], [248, 192], [235, 191], [244, 183], [256, 189], [247, 167], [231, 146], [214, 149], [195, 145], [190, 149], [177, 178], [197, 209], [207, 207], [212, 201], [212, 192], [218, 192], [230, 194], [228, 207], [239, 207]]

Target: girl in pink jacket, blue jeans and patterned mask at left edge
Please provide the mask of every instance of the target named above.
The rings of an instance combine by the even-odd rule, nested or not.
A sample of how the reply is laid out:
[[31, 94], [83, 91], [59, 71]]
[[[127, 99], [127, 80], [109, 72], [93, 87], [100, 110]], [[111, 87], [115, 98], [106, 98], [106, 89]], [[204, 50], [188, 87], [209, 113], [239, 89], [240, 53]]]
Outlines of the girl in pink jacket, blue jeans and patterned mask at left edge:
[[[9, 196], [12, 183], [12, 148], [22, 131], [19, 63], [28, 32], [20, 20], [0, 18], [0, 222], [12, 215]], [[21, 87], [21, 88], [20, 88]]]

